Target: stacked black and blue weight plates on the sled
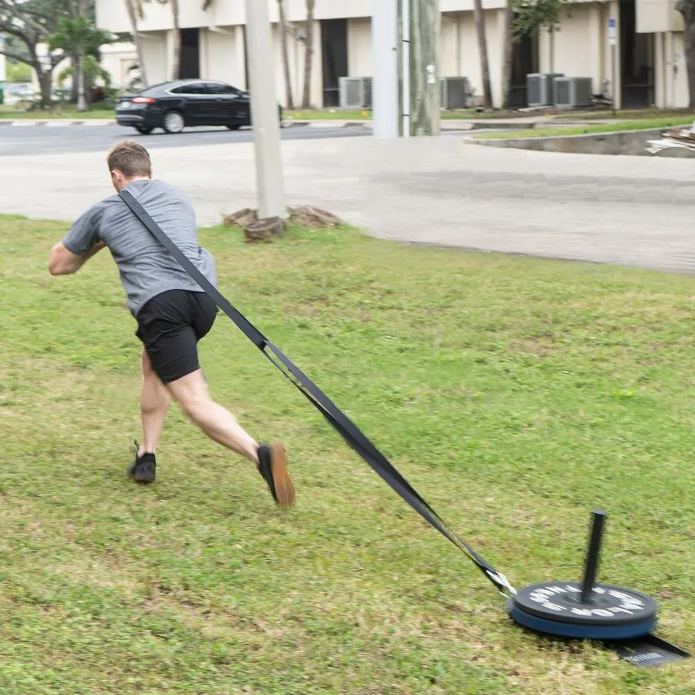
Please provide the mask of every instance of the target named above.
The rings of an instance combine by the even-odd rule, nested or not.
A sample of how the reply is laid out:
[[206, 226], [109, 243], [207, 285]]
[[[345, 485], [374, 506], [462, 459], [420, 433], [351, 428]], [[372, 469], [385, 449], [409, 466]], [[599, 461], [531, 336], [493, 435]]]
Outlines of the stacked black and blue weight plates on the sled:
[[533, 630], [595, 639], [646, 635], [656, 623], [657, 604], [640, 591], [597, 584], [591, 603], [581, 598], [578, 582], [532, 584], [509, 601], [509, 614]]

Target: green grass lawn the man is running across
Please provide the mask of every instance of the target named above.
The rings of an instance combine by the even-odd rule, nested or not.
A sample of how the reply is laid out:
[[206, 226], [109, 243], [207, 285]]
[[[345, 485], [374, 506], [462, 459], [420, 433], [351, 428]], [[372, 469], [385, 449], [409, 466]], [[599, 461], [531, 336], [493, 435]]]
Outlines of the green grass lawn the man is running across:
[[[158, 483], [124, 477], [138, 342], [108, 254], [51, 278], [58, 222], [1, 218], [0, 692], [348, 695], [692, 693], [516, 628], [226, 318], [215, 398], [291, 452], [281, 512], [245, 462], [172, 408]], [[222, 291], [517, 586], [600, 576], [655, 595], [695, 648], [695, 279], [205, 229]]]

